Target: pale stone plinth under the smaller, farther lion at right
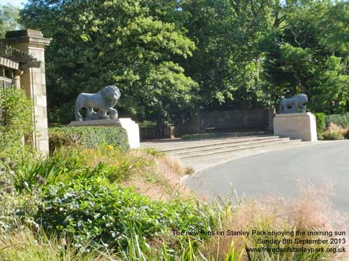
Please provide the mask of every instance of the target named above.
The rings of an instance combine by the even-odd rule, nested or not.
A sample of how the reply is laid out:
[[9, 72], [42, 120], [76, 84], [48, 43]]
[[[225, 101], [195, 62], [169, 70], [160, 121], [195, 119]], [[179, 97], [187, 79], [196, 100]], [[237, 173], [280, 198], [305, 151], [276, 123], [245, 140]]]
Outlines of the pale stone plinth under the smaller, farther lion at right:
[[277, 114], [274, 118], [274, 135], [317, 141], [315, 116], [309, 112]]

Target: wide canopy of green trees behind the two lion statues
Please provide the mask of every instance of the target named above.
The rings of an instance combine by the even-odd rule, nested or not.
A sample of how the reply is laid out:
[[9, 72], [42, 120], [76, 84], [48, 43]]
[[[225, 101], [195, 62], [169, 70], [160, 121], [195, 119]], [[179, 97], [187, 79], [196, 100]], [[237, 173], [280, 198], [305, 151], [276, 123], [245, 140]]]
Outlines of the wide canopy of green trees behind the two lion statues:
[[24, 26], [51, 37], [52, 120], [80, 92], [115, 84], [121, 113], [272, 108], [306, 93], [312, 111], [348, 111], [348, 1], [29, 0]]

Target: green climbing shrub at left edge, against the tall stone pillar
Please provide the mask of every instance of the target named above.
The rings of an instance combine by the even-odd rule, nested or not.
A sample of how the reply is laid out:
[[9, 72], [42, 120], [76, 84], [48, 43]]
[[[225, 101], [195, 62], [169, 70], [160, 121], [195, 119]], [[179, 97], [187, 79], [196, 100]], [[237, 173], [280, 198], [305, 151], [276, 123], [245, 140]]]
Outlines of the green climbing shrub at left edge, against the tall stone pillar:
[[33, 132], [32, 102], [24, 90], [5, 88], [0, 90], [0, 109], [0, 150], [20, 150], [23, 136]]

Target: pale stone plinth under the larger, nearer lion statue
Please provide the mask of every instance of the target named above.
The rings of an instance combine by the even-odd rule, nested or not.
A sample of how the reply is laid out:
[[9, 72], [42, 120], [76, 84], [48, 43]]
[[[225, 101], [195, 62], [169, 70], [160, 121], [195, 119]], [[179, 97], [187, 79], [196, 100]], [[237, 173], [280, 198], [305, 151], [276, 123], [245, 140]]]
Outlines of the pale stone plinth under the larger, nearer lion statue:
[[131, 149], [140, 148], [140, 128], [131, 118], [120, 118], [116, 120], [82, 120], [72, 121], [69, 126], [105, 126], [122, 127], [126, 130], [128, 145]]

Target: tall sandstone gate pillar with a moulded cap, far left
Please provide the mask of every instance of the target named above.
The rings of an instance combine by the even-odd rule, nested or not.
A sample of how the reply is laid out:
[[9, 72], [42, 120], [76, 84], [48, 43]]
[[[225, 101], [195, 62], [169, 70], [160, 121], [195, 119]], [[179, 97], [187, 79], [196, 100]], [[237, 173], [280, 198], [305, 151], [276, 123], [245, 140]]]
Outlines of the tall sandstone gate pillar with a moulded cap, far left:
[[[20, 76], [20, 85], [27, 96], [34, 102], [34, 134], [31, 136], [34, 148], [48, 155], [47, 102], [45, 81], [45, 46], [50, 39], [43, 38], [43, 33], [35, 30], [9, 31], [6, 44], [20, 49], [40, 61], [39, 68], [25, 68]], [[16, 79], [15, 79], [16, 81]], [[17, 79], [18, 81], [18, 79]], [[18, 83], [17, 83], [18, 84]], [[16, 85], [17, 85], [16, 84]]]

